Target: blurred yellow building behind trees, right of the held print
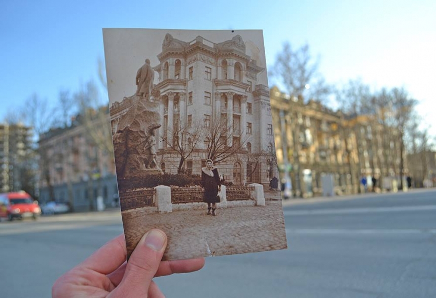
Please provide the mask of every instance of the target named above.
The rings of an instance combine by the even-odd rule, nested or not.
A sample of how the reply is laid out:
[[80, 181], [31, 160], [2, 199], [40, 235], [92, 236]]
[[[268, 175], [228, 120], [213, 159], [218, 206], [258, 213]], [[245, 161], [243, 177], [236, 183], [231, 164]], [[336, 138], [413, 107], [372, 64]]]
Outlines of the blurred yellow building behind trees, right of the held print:
[[[399, 187], [399, 138], [395, 129], [378, 123], [372, 115], [344, 115], [319, 102], [292, 98], [271, 89], [277, 158], [289, 164], [296, 196], [322, 194], [322, 177], [333, 175], [336, 194], [365, 191], [365, 177], [373, 189]], [[284, 141], [286, 140], [286, 141]], [[407, 169], [406, 169], [407, 171]]]

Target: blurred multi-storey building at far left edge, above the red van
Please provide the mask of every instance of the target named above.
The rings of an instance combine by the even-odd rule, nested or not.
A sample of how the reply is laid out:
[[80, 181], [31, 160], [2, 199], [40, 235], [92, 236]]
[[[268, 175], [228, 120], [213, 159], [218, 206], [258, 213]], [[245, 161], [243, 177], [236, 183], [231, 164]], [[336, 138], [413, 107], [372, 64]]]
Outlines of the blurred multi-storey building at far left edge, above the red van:
[[0, 124], [0, 192], [25, 190], [34, 195], [31, 138], [30, 127]]

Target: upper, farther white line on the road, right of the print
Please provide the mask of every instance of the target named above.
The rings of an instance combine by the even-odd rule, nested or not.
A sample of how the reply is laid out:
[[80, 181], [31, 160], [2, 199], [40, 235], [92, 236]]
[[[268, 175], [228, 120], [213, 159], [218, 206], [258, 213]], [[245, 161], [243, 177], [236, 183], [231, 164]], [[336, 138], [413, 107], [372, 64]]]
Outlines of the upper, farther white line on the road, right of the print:
[[405, 212], [405, 211], [431, 211], [436, 210], [436, 205], [402, 206], [402, 207], [371, 207], [371, 208], [342, 208], [342, 209], [317, 209], [317, 210], [285, 210], [286, 215], [318, 215], [318, 214], [355, 214], [378, 212]]

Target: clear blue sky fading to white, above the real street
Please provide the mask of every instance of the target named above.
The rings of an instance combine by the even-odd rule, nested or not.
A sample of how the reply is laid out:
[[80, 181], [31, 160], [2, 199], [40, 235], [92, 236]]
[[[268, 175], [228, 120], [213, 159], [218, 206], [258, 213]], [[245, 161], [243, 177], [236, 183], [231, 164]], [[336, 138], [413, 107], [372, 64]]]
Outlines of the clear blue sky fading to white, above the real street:
[[422, 127], [436, 136], [435, 15], [434, 0], [3, 0], [0, 121], [32, 94], [55, 106], [60, 90], [99, 84], [102, 28], [262, 29], [267, 68], [284, 42], [307, 43], [328, 83], [361, 78], [374, 89], [404, 86], [419, 101]]

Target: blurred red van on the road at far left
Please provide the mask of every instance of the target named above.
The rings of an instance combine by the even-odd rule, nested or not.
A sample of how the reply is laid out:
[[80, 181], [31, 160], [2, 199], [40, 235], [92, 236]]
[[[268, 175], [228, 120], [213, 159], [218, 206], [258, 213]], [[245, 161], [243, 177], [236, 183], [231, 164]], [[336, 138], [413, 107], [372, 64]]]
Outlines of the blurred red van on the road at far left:
[[38, 202], [25, 191], [0, 194], [0, 219], [27, 218], [38, 219], [41, 208]]

